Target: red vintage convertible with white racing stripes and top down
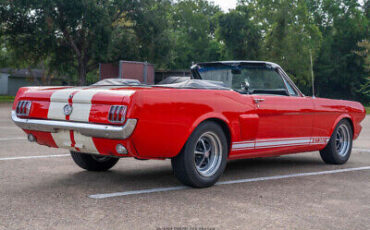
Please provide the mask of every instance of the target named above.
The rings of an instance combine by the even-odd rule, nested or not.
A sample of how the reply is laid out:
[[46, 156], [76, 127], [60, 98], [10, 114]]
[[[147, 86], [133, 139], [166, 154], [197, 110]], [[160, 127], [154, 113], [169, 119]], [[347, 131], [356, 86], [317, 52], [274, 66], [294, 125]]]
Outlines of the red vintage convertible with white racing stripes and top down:
[[86, 170], [119, 158], [171, 159], [175, 176], [213, 185], [227, 159], [320, 151], [325, 163], [351, 154], [365, 109], [303, 95], [274, 63], [199, 63], [191, 78], [158, 85], [108, 79], [87, 87], [24, 87], [12, 119], [29, 141], [71, 151]]

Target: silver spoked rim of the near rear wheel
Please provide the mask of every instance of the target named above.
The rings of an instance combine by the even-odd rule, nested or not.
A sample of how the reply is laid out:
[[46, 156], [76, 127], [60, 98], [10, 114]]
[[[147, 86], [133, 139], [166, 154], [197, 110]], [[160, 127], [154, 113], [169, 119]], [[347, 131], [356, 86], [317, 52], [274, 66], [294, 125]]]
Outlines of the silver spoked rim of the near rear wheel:
[[213, 132], [202, 134], [194, 149], [194, 163], [198, 173], [205, 177], [214, 175], [222, 161], [222, 144]]

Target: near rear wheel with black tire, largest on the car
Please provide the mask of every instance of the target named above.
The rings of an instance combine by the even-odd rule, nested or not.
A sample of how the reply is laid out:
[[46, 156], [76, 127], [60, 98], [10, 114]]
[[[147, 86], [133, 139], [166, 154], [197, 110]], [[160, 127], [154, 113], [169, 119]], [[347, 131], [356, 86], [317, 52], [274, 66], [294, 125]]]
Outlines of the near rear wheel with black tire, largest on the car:
[[[195, 153], [197, 148], [199, 148], [199, 141], [201, 141], [201, 139], [203, 140], [203, 138], [210, 138], [208, 153], [205, 154], [209, 156], [205, 158], [208, 159], [207, 164], [213, 165], [211, 163], [216, 162], [214, 163], [214, 167], [210, 167], [209, 175], [205, 175], [207, 174], [207, 170], [201, 171], [201, 166], [206, 161], [204, 159], [199, 160], [198, 152], [197, 154]], [[202, 142], [203, 147], [206, 147], [207, 139], [204, 140], [205, 141]], [[214, 145], [212, 145], [211, 142]], [[226, 136], [222, 128], [212, 121], [203, 122], [190, 135], [179, 155], [171, 159], [173, 172], [177, 179], [185, 185], [196, 188], [212, 186], [217, 182], [225, 170], [228, 149]], [[205, 155], [203, 155], [203, 157]], [[198, 161], [199, 165], [197, 165], [196, 161]]]

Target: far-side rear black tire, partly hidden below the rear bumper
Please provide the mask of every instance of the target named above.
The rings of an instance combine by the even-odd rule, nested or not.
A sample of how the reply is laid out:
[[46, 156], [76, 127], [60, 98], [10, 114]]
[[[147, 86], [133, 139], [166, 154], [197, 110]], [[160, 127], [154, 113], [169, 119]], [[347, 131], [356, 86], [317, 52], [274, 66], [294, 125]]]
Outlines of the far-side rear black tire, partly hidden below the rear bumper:
[[73, 161], [87, 171], [107, 171], [112, 168], [119, 158], [98, 156], [71, 151]]

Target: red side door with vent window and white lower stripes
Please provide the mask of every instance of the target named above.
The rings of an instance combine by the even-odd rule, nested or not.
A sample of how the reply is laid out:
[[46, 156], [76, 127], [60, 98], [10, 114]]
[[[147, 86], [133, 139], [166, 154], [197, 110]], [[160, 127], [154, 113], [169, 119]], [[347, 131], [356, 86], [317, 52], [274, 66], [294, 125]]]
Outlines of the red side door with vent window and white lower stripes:
[[[255, 90], [253, 101], [259, 117], [255, 149], [295, 148], [311, 142], [313, 101], [304, 97], [280, 69], [265, 78], [264, 90]], [[286, 95], [281, 95], [286, 90]]]

